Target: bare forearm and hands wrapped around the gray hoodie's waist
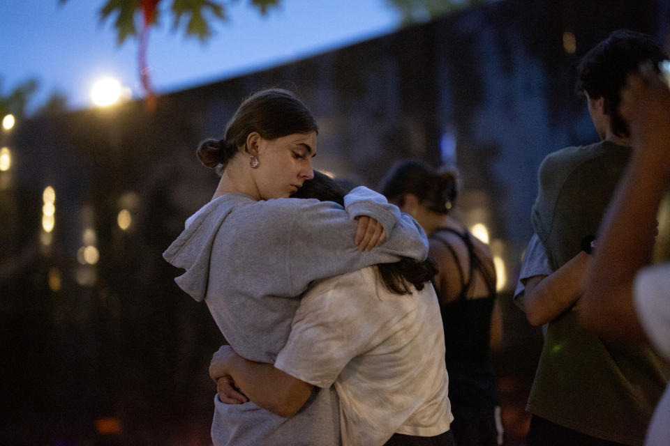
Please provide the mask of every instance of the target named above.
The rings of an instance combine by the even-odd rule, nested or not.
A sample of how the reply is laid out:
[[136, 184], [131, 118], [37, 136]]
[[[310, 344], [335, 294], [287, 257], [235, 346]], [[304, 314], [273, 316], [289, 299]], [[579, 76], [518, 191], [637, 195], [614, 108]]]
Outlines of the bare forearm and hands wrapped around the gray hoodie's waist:
[[[313, 387], [272, 364], [246, 360], [230, 346], [222, 346], [214, 353], [209, 364], [209, 376], [216, 382], [221, 402], [239, 404], [246, 402], [248, 397], [258, 406], [281, 417], [297, 413]], [[237, 392], [234, 386], [239, 387], [243, 394]]]

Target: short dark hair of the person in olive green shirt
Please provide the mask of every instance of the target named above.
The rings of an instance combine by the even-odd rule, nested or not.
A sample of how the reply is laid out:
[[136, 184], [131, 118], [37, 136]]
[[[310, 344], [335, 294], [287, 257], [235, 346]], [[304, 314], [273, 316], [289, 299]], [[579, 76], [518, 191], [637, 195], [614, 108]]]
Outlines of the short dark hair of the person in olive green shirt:
[[612, 132], [627, 137], [628, 124], [618, 110], [626, 79], [641, 63], [650, 61], [657, 67], [663, 59], [667, 56], [652, 36], [626, 29], [614, 31], [583, 56], [577, 68], [575, 89], [578, 93], [586, 91], [592, 99], [604, 98], [604, 111], [609, 115]]

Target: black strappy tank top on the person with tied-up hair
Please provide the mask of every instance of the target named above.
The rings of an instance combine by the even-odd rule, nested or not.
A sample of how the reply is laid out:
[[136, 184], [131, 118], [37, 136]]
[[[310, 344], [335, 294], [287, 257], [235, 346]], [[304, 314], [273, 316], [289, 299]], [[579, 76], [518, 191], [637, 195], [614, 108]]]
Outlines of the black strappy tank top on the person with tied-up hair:
[[[468, 282], [456, 251], [440, 233], [459, 236], [468, 249]], [[454, 405], [491, 407], [498, 405], [496, 379], [493, 375], [490, 354], [491, 314], [496, 298], [494, 279], [486, 274], [486, 267], [472, 244], [470, 234], [451, 228], [438, 228], [429, 238], [436, 240], [452, 253], [461, 276], [461, 291], [452, 302], [445, 303], [438, 293], [442, 324], [445, 330], [445, 362], [449, 372], [449, 400]], [[438, 270], [440, 265], [438, 265]], [[475, 273], [482, 273], [488, 295], [472, 296]], [[433, 284], [434, 285], [434, 284]]]

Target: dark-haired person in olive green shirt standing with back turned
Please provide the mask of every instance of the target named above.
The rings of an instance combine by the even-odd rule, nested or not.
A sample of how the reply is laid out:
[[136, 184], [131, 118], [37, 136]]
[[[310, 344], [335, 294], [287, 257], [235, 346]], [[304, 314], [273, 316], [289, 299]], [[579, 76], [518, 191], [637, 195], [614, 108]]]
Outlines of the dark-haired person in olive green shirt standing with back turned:
[[611, 344], [578, 321], [590, 242], [631, 153], [620, 91], [648, 59], [664, 59], [662, 49], [632, 31], [615, 31], [591, 49], [577, 89], [602, 141], [563, 148], [539, 167], [535, 235], [520, 282], [528, 321], [548, 327], [528, 398], [528, 446], [640, 445], [670, 376], [649, 348]]

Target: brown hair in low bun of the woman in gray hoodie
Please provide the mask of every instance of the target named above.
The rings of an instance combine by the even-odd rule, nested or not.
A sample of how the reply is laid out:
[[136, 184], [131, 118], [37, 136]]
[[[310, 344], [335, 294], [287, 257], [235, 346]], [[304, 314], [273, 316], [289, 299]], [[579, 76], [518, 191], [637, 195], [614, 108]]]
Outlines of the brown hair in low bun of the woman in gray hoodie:
[[[206, 139], [198, 147], [198, 159], [213, 169], [228, 164], [246, 138], [258, 132], [264, 139], [294, 133], [317, 132], [318, 126], [307, 107], [290, 91], [264, 89], [246, 98], [225, 126], [223, 139]], [[220, 169], [222, 170], [222, 169]]]

